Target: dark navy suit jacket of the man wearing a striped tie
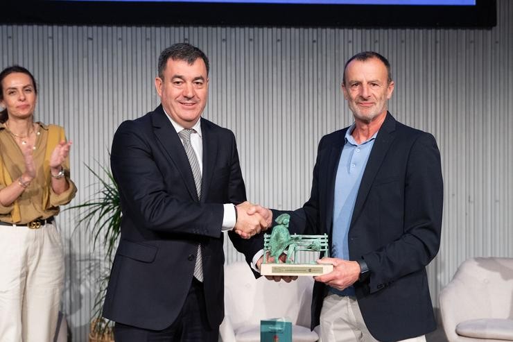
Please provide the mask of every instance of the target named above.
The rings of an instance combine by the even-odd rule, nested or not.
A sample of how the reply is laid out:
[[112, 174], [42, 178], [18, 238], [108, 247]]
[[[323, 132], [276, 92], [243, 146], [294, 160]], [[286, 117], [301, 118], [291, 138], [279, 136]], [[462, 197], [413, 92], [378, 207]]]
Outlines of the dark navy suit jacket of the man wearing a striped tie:
[[[191, 286], [202, 243], [207, 316], [213, 328], [223, 320], [223, 203], [240, 203], [246, 194], [233, 133], [206, 119], [201, 130], [201, 200], [162, 105], [116, 131], [111, 167], [123, 219], [103, 307], [106, 318], [150, 330], [171, 325]], [[261, 248], [229, 235], [238, 250], [249, 253], [248, 260]]]

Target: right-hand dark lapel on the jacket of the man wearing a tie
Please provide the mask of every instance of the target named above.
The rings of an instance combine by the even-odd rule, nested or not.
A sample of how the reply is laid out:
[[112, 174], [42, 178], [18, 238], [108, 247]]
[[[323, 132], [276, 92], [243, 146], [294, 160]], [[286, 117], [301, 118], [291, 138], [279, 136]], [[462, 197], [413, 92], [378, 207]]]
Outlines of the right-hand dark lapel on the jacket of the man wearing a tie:
[[205, 202], [210, 182], [214, 174], [218, 153], [218, 139], [205, 119], [201, 119], [201, 134], [203, 145], [203, 173], [201, 179], [201, 202]]

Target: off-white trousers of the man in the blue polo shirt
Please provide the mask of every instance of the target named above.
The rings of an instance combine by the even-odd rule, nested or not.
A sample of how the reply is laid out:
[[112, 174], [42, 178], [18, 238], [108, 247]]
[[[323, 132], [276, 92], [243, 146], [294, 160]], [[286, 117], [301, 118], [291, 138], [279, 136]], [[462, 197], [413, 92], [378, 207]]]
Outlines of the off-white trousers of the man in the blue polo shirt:
[[[379, 342], [367, 330], [356, 298], [329, 294], [322, 302], [320, 342]], [[399, 342], [426, 342], [424, 335]]]

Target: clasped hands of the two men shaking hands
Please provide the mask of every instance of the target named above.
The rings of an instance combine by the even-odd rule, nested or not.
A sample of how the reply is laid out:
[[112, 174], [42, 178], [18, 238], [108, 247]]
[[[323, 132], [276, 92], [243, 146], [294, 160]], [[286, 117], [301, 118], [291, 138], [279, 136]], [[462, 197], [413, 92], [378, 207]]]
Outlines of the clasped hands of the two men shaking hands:
[[272, 224], [272, 212], [261, 205], [254, 205], [250, 202], [243, 202], [235, 206], [236, 223], [234, 232], [243, 239], [265, 232]]

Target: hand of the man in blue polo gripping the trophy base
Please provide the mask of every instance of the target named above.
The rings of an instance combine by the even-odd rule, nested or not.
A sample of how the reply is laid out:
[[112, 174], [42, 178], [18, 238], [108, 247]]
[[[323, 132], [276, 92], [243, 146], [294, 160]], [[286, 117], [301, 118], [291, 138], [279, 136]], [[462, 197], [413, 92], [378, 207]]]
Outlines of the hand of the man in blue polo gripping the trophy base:
[[332, 257], [323, 257], [317, 261], [318, 264], [332, 264], [333, 271], [327, 274], [313, 277], [316, 282], [324, 282], [335, 289], [342, 291], [354, 284], [360, 277], [360, 265], [358, 262], [336, 259]]

